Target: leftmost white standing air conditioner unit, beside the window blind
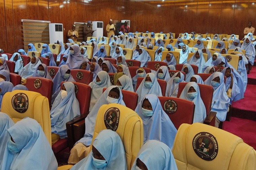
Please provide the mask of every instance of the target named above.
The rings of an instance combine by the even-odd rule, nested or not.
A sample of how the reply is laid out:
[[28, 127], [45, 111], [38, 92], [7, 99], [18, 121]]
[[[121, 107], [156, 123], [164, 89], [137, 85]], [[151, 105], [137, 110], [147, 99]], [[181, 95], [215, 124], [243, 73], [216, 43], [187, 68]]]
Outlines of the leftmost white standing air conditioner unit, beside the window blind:
[[63, 24], [49, 23], [50, 44], [56, 43], [58, 40], [63, 42]]

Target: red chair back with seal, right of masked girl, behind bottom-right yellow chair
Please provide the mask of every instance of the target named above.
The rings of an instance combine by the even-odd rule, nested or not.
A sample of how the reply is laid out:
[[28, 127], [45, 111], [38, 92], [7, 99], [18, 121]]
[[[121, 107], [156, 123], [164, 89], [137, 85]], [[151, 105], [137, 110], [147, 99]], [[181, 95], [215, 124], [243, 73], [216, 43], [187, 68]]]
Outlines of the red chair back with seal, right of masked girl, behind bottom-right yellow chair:
[[[182, 123], [193, 123], [195, 110], [193, 102], [172, 97], [158, 97], [158, 99], [160, 100], [163, 110], [169, 116], [176, 129], [178, 129]], [[172, 109], [168, 108], [170, 105], [172, 106]]]

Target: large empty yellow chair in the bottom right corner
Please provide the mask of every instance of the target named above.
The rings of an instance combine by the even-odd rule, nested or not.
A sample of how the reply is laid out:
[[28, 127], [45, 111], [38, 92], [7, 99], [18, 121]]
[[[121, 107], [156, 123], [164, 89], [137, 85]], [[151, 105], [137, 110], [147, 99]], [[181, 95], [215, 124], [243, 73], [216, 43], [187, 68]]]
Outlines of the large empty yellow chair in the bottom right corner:
[[243, 139], [202, 124], [182, 124], [172, 154], [179, 170], [255, 170], [256, 151]]

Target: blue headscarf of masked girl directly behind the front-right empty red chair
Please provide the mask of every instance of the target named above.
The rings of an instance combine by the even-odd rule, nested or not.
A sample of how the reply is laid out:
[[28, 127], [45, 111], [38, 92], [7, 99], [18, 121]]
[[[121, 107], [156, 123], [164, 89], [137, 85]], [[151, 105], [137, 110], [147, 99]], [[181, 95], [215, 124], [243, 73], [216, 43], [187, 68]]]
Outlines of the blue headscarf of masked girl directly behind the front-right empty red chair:
[[[190, 87], [193, 87], [196, 91], [195, 98], [191, 98], [188, 96], [188, 90]], [[199, 90], [198, 84], [196, 82], [187, 83], [185, 88], [181, 92], [180, 99], [185, 99], [185, 100], [194, 102], [195, 113], [194, 113], [193, 123], [197, 123], [197, 122], [203, 123], [204, 119], [206, 118], [206, 109], [200, 96], [200, 90]]]

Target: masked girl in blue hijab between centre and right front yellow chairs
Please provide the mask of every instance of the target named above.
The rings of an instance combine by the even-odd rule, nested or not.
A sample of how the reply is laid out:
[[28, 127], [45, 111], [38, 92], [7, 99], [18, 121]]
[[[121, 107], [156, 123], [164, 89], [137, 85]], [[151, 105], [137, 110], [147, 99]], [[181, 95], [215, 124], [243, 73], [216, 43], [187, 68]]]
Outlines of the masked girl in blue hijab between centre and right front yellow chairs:
[[158, 97], [153, 94], [145, 95], [135, 112], [143, 122], [143, 141], [158, 140], [172, 149], [177, 129], [164, 112]]

